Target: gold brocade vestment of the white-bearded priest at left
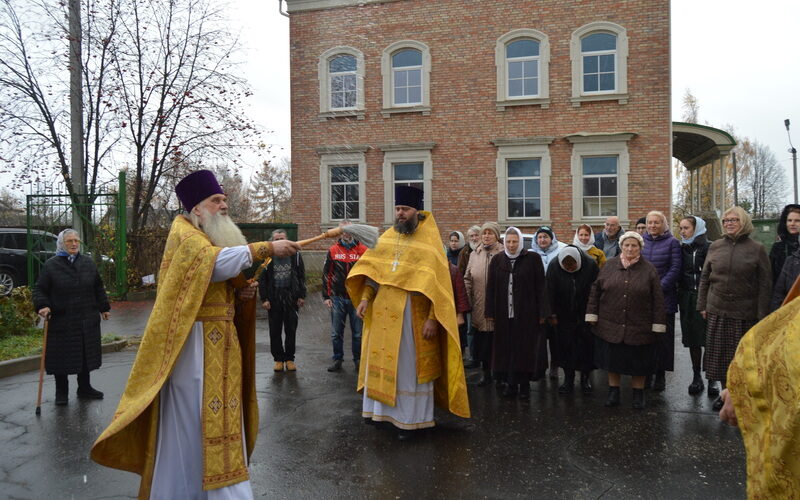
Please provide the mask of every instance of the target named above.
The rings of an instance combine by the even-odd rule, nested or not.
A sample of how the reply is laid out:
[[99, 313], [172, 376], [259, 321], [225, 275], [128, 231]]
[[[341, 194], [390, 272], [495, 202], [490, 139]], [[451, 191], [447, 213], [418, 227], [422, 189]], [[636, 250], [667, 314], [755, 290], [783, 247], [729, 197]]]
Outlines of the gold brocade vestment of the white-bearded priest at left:
[[[234, 278], [226, 283], [209, 286], [220, 250], [185, 217], [175, 218], [164, 249], [153, 312], [145, 327], [125, 391], [113, 420], [92, 447], [91, 456], [97, 463], [142, 476], [140, 498], [148, 498], [150, 494], [156, 454], [159, 392], [175, 366], [192, 325], [200, 320], [201, 305], [213, 309], [203, 317], [206, 356], [203, 418], [213, 414], [208, 404], [216, 395], [221, 405], [217, 415], [220, 418], [224, 416], [229, 424], [219, 427], [214, 427], [216, 424], [211, 425], [214, 433], [209, 435], [205, 434], [207, 423], [203, 422], [205, 455], [209, 455], [209, 450], [212, 450], [211, 454], [216, 454], [218, 449], [226, 449], [225, 446], [220, 447], [221, 443], [228, 443], [230, 446], [227, 449], [231, 450], [227, 456], [223, 453], [220, 460], [215, 457], [211, 457], [210, 461], [206, 460], [205, 466], [208, 468], [205, 471], [204, 488], [219, 488], [247, 478], [247, 469], [242, 466], [242, 415], [248, 455], [252, 453], [258, 431], [258, 409], [255, 386], [252, 383], [255, 373], [255, 302], [237, 302], [234, 309], [232, 286], [245, 286], [244, 279]], [[225, 290], [221, 295], [214, 290], [217, 285]], [[207, 292], [210, 296], [207, 296]], [[232, 321], [234, 310], [236, 327]], [[214, 329], [217, 333], [213, 333]], [[215, 344], [212, 338], [217, 335], [220, 337]], [[232, 347], [234, 344], [235, 347]], [[210, 369], [209, 361], [221, 361], [216, 354], [209, 354], [209, 351], [216, 349], [224, 352], [225, 346], [228, 346], [230, 356], [236, 357], [238, 365], [228, 360], [229, 371], [225, 379], [227, 394], [217, 390], [216, 394], [211, 395], [210, 381], [219, 380], [209, 377], [211, 372], [216, 372], [216, 369]], [[217, 367], [216, 364], [214, 366]], [[238, 389], [232, 390], [233, 385]], [[231, 417], [225, 404], [231, 397], [240, 400], [240, 404], [233, 408], [235, 417]], [[231, 418], [237, 419], [235, 426], [231, 423]], [[233, 427], [235, 429], [231, 432]], [[238, 458], [233, 456], [233, 450], [236, 450]], [[217, 462], [222, 465], [218, 466]]]

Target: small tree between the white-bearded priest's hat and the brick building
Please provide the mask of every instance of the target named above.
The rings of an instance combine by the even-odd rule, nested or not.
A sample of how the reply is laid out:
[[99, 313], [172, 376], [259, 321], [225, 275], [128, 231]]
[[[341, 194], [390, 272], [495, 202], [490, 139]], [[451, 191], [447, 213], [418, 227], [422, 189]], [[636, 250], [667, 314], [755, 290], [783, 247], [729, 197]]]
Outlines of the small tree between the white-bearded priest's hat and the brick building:
[[280, 165], [264, 161], [253, 176], [250, 189], [253, 208], [267, 222], [290, 219], [291, 171], [291, 162], [284, 157]]

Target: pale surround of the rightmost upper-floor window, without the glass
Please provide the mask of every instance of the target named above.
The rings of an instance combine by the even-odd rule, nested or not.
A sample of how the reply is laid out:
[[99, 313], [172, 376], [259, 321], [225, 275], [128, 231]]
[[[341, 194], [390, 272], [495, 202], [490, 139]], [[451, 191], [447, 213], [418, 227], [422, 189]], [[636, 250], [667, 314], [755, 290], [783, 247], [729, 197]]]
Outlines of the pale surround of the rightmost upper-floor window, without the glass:
[[[609, 33], [617, 37], [615, 58], [616, 89], [613, 91], [583, 91], [583, 53], [581, 52], [581, 39], [594, 33]], [[607, 53], [611, 53], [608, 51]], [[593, 52], [601, 55], [604, 52]], [[628, 95], [628, 32], [622, 26], [608, 22], [597, 21], [581, 26], [572, 32], [569, 44], [569, 55], [572, 60], [572, 101], [573, 106], [580, 106], [589, 101], [616, 100], [620, 104], [627, 104]]]

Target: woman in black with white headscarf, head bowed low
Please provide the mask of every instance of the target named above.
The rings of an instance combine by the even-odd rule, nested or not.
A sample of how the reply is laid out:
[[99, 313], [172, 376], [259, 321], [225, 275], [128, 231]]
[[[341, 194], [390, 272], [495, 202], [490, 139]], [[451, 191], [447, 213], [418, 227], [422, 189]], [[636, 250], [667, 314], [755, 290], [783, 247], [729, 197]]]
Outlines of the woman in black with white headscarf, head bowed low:
[[[605, 259], [605, 254], [598, 251]], [[598, 270], [595, 260], [574, 245], [564, 247], [558, 253], [558, 259], [547, 267], [550, 324], [556, 330], [558, 359], [564, 369], [564, 383], [558, 388], [559, 394], [572, 393], [575, 370], [581, 372], [581, 390], [587, 394], [592, 392], [589, 375], [594, 369], [594, 339], [585, 316], [589, 292]]]

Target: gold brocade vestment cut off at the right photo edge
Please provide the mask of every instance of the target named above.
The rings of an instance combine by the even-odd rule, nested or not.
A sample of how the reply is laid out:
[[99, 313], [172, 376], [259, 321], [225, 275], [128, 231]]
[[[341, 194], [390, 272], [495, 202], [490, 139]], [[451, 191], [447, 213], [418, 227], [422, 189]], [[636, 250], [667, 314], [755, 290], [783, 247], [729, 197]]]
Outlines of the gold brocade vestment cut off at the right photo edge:
[[800, 499], [800, 300], [742, 337], [728, 369], [750, 499]]

